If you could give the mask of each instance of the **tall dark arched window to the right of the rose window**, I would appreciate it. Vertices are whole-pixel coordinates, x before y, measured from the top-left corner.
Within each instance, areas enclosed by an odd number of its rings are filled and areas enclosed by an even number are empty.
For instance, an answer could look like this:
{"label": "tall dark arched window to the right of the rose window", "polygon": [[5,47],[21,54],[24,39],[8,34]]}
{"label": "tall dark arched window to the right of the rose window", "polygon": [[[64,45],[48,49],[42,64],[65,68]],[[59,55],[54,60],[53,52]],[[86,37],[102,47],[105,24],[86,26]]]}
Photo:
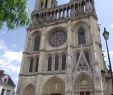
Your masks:
{"label": "tall dark arched window to the right of the rose window", "polygon": [[85,40],[85,30],[83,28],[79,28],[78,30],[78,44],[86,44]]}

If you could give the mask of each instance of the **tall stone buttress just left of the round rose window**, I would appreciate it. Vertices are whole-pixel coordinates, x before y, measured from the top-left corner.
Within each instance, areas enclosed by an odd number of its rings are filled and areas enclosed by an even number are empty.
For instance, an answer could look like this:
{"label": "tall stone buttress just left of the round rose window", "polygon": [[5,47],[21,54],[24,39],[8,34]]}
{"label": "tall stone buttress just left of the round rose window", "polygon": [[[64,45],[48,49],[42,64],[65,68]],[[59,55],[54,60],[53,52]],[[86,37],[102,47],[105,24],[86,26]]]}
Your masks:
{"label": "tall stone buttress just left of the round rose window", "polygon": [[[44,63],[46,60],[45,59],[45,42],[46,42],[46,37],[45,37],[45,33],[46,33],[46,27],[42,28],[41,30],[41,40],[40,40],[40,53],[39,53],[39,66],[38,66],[38,73],[42,74],[45,70],[44,68]],[[36,92],[35,95],[43,95],[42,91],[43,91],[43,79],[42,79],[42,75],[38,75],[37,76],[37,80],[36,80]]]}

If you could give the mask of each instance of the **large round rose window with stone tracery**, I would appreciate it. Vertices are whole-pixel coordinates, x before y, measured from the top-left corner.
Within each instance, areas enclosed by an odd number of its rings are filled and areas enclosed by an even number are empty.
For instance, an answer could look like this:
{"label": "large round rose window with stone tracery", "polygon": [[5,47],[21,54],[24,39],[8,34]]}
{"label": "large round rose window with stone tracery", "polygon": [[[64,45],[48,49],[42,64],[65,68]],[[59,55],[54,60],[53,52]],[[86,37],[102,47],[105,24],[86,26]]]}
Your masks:
{"label": "large round rose window with stone tracery", "polygon": [[67,40],[67,33],[63,30],[52,32],[49,36],[49,44],[52,47],[59,47],[63,45]]}

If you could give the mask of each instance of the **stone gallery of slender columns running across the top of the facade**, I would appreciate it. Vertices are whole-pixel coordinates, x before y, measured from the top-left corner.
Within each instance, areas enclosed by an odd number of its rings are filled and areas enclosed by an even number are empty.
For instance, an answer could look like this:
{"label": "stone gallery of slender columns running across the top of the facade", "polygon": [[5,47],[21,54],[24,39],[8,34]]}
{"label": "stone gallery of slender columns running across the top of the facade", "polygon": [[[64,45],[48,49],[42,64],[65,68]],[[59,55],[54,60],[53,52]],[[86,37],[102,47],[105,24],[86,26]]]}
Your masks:
{"label": "stone gallery of slender columns running across the top of the facade", "polygon": [[41,11],[34,10],[32,13],[32,27],[37,28],[62,23],[90,15],[97,18],[93,1],[75,0],[75,2],[70,2],[55,8],[43,9]]}

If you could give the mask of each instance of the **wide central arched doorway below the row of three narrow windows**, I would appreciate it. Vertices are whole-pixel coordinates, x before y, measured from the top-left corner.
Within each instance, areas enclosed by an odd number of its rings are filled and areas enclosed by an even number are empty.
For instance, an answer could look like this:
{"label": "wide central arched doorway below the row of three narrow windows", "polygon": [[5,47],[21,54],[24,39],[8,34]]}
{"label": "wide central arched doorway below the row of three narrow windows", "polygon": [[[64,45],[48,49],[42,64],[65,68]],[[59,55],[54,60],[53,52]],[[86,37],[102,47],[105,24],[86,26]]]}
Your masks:
{"label": "wide central arched doorway below the row of three narrow windows", "polygon": [[44,85],[43,95],[64,95],[65,83],[59,77],[49,79]]}

